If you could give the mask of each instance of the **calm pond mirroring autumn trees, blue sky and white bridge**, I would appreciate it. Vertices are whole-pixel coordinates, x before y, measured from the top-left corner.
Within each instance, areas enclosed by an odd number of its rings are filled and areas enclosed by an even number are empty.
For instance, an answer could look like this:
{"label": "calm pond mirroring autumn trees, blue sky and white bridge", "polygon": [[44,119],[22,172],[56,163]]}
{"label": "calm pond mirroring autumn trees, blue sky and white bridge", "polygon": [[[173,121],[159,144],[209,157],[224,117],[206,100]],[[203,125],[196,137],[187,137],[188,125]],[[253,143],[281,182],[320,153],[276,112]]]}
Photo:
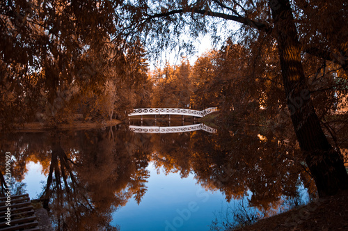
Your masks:
{"label": "calm pond mirroring autumn trees, blue sky and white bridge", "polygon": [[13,134],[13,193],[40,198],[58,230],[123,231],[228,230],[315,197],[292,141],[180,123]]}

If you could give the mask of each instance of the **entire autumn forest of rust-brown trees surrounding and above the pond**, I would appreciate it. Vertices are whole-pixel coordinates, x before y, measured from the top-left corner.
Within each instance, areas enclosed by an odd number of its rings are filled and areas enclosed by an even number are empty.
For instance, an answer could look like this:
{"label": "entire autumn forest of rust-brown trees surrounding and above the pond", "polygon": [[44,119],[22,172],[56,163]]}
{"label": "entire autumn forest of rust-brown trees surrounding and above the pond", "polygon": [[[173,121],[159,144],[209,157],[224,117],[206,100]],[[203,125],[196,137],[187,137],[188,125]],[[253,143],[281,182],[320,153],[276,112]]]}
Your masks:
{"label": "entire autumn forest of rust-brown trees surrounding and above the pond", "polygon": [[[1,1],[1,134],[217,106],[219,126],[296,141],[319,196],[333,195],[348,188],[347,17],[343,0]],[[150,70],[202,33],[222,47]]]}

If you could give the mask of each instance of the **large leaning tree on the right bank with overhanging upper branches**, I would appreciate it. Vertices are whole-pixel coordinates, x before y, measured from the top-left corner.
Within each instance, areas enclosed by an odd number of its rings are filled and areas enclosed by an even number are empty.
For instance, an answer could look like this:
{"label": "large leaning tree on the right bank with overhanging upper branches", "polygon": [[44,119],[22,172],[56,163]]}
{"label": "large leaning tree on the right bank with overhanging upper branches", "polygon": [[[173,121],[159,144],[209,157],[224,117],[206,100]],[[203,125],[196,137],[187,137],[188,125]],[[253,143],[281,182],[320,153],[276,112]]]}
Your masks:
{"label": "large leaning tree on the right bank with overhanging upper branches", "polygon": [[[260,44],[260,38],[274,41],[294,132],[319,196],[332,195],[348,188],[342,154],[333,148],[322,130],[302,63],[304,51],[316,58],[331,61],[347,74],[347,33],[342,36],[339,33],[347,31],[347,24],[338,23],[347,22],[345,1],[165,1],[150,5],[146,1],[139,1],[134,5],[127,3],[126,6],[136,11],[125,14],[129,17],[126,35],[132,34],[132,30],[142,33],[157,47],[175,44],[169,41],[173,37],[179,40],[181,29],[189,27],[192,36],[207,32],[206,25],[216,22],[209,21],[208,17],[241,24],[244,34],[240,40],[251,49]],[[312,6],[315,6],[314,9]],[[321,23],[322,16],[326,20],[324,24]],[[214,24],[212,30],[217,31]],[[252,55],[258,56],[258,53]]]}

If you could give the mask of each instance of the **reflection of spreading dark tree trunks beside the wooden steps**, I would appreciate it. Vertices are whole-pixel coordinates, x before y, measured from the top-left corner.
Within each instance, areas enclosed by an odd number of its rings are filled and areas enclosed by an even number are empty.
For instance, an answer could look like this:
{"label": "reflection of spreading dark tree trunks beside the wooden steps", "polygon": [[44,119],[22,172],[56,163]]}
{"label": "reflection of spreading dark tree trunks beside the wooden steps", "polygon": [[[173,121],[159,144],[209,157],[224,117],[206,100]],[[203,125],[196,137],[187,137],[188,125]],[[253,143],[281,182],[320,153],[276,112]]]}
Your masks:
{"label": "reflection of spreading dark tree trunks beside the wooden steps", "polygon": [[90,200],[84,184],[75,175],[76,164],[61,147],[60,138],[54,138],[58,141],[52,144],[52,161],[40,200],[46,209],[51,209],[56,228],[72,230],[107,225],[107,211],[104,208],[100,211]]}

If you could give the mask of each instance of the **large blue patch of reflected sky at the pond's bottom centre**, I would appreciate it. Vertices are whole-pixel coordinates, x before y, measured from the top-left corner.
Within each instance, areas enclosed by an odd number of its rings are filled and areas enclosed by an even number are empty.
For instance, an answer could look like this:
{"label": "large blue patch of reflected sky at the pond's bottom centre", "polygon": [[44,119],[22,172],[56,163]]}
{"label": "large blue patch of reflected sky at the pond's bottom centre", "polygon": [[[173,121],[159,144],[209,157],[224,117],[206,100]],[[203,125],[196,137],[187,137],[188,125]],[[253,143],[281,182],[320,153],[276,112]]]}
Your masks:
{"label": "large blue patch of reflected sky at the pond's bottom centre", "polygon": [[148,170],[148,191],[140,205],[131,199],[113,214],[111,224],[120,225],[121,231],[209,230],[214,212],[227,205],[219,191],[207,192],[196,184],[193,174],[183,179],[179,173],[158,175],[152,163]]}

